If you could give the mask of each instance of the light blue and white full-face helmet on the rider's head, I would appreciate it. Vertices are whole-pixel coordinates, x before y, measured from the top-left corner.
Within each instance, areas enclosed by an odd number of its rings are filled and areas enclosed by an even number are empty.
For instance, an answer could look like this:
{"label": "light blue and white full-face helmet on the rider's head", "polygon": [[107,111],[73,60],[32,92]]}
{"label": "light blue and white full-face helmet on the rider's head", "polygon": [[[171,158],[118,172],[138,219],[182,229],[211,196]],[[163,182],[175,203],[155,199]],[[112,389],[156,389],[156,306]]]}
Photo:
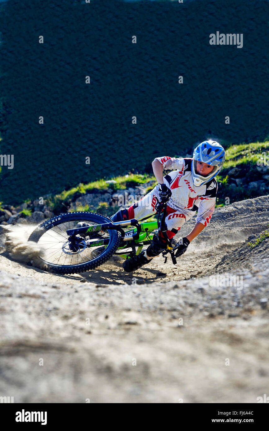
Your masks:
{"label": "light blue and white full-face helmet on the rider's head", "polygon": [[[207,165],[214,166],[210,174],[203,176],[197,173],[197,162],[203,162]],[[194,149],[193,159],[191,162],[191,173],[195,186],[202,186],[216,177],[222,169],[225,161],[224,148],[216,141],[203,141]]]}

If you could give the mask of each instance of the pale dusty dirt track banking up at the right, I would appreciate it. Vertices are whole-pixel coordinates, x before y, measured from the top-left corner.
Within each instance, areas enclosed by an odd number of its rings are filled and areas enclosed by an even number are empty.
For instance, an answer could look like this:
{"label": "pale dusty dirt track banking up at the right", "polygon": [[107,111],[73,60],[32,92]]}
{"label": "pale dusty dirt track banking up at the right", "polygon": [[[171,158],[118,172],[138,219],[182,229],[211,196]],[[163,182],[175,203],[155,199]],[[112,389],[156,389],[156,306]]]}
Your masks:
{"label": "pale dusty dirt track banking up at the right", "polygon": [[269,394],[269,238],[247,241],[268,224],[269,196],[216,209],[177,265],[157,258],[131,275],[119,258],[49,274],[11,259],[2,236],[0,396],[256,403]]}

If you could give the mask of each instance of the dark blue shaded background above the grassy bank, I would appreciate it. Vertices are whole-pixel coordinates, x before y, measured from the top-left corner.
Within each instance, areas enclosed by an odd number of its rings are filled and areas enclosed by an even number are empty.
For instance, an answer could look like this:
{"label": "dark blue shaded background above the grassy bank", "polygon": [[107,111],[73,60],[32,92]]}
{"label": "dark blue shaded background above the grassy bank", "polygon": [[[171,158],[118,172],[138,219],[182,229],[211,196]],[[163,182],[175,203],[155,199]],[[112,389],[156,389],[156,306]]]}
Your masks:
{"label": "dark blue shaded background above the grassy bank", "polygon": [[[1,3],[0,153],[14,169],[0,200],[143,172],[209,137],[265,140],[268,12],[267,0]],[[243,33],[243,47],[210,45],[216,31]]]}

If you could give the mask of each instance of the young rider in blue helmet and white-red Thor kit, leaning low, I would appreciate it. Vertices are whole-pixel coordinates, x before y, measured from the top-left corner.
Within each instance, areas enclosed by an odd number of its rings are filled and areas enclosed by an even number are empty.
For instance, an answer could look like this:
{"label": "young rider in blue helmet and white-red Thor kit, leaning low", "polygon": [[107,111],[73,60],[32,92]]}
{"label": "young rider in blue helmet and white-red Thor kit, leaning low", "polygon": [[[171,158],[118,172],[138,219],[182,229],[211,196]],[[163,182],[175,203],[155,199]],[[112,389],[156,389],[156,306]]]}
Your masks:
{"label": "young rider in blue helmet and white-red Thor kit, leaning low", "polygon": [[[224,160],[224,148],[216,141],[203,141],[194,149],[193,158],[156,157],[152,162],[153,173],[158,181],[156,187],[129,208],[119,209],[111,220],[141,220],[156,214],[157,199],[168,202],[165,221],[168,228],[166,233],[171,239],[197,211],[194,228],[178,242],[176,254],[181,256],[210,222],[218,190],[215,177],[222,169]],[[163,178],[163,169],[175,170]],[[123,269],[131,272],[140,268],[166,250],[166,247],[165,237],[159,232],[147,250],[125,260]]]}

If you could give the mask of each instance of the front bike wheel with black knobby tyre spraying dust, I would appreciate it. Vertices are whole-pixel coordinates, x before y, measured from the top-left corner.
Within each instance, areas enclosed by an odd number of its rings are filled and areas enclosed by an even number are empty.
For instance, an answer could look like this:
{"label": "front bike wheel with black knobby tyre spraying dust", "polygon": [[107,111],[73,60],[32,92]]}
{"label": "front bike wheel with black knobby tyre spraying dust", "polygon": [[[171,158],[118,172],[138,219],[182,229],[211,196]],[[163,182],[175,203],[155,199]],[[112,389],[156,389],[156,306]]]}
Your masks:
{"label": "front bike wheel with black knobby tyre spraying dust", "polygon": [[91,233],[90,247],[87,238],[78,235],[74,247],[66,231],[75,228],[79,222],[91,226],[111,220],[94,212],[68,212],[42,223],[28,238],[40,247],[38,266],[51,272],[74,274],[94,269],[110,259],[119,245],[119,231],[107,229]]}

